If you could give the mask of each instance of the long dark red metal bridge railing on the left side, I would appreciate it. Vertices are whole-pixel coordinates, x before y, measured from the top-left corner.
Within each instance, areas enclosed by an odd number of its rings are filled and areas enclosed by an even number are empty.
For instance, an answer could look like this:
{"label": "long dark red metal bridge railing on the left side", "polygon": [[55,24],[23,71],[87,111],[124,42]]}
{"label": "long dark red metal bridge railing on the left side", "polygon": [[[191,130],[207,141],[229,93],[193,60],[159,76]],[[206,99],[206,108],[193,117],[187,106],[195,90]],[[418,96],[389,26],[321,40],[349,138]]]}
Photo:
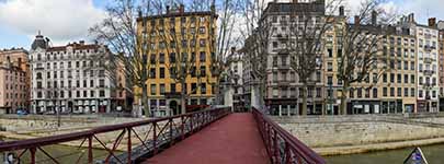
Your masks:
{"label": "long dark red metal bridge railing on the left side", "polygon": [[[161,148],[166,147],[167,144],[172,145],[174,142],[183,140],[191,133],[228,115],[229,113],[230,108],[214,108],[177,115],[172,117],[103,126],[80,132],[19,141],[7,141],[0,143],[0,152],[14,152],[15,154],[19,154],[19,156],[16,157],[20,160],[23,159],[23,154],[27,151],[30,152],[30,163],[34,164],[36,163],[36,151],[42,151],[42,153],[45,154],[46,159],[58,163],[57,156],[52,156],[50,153],[46,152],[43,149],[43,147],[79,140],[82,141],[79,148],[82,148],[83,143],[87,142],[86,147],[88,148],[88,163],[93,163],[93,160],[96,159],[93,159],[92,142],[96,141],[98,143],[95,145],[102,145],[101,148],[109,152],[107,157],[105,159],[105,163],[109,161],[117,161],[118,163],[133,163],[139,157],[134,157],[135,154],[155,155],[158,153],[158,151],[160,151]],[[148,129],[148,131],[137,131],[140,129],[136,128],[145,128]],[[100,137],[98,137],[98,134],[109,134],[107,132],[119,133],[118,137],[115,138],[114,133],[112,133],[113,139],[115,139],[113,143],[114,145],[111,145],[112,148],[109,148],[110,144],[105,144],[102,141],[104,139],[100,139]],[[143,133],[146,133],[146,136],[141,136]],[[144,137],[145,139],[143,139]],[[127,151],[124,152],[124,155],[117,155],[116,149],[122,140],[127,141]],[[132,142],[132,140],[138,142],[139,145],[135,145],[135,142]],[[133,149],[143,151],[144,153],[134,153],[132,152]],[[81,156],[83,155],[80,155],[80,157],[78,159],[78,163],[80,162],[80,160],[86,160],[81,159]],[[125,159],[118,156],[125,156]]]}

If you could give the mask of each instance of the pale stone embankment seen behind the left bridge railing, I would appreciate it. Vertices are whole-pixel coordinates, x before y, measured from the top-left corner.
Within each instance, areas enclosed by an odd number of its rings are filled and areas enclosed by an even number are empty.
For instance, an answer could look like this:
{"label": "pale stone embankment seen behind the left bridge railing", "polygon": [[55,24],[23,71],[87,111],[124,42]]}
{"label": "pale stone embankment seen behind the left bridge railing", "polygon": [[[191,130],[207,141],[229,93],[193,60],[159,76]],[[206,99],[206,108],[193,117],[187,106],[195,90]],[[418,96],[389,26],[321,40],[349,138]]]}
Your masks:
{"label": "pale stone embankment seen behind the left bridge railing", "polygon": [[[78,131],[90,130],[96,127],[106,125],[116,125],[130,121],[143,120],[146,118],[123,118],[123,117],[100,117],[100,116],[64,116],[61,117],[61,127],[57,127],[56,116],[41,116],[41,115],[1,115],[0,127],[4,131],[0,131],[0,138],[7,140],[26,140],[41,137],[49,137],[56,134],[71,133]],[[138,131],[147,131],[147,127],[137,128]],[[113,143],[118,137],[121,131],[111,131],[106,133],[96,134],[103,143]],[[139,132],[146,134],[146,132]],[[132,138],[133,139],[133,138]],[[126,143],[127,139],[123,139],[122,143]],[[79,147],[83,140],[76,140],[70,142],[61,142],[59,145]],[[136,138],[133,139],[134,144],[138,143]],[[88,144],[82,144],[88,147]],[[94,149],[104,149],[100,142],[93,142]],[[125,144],[119,144],[117,151],[126,151]]]}

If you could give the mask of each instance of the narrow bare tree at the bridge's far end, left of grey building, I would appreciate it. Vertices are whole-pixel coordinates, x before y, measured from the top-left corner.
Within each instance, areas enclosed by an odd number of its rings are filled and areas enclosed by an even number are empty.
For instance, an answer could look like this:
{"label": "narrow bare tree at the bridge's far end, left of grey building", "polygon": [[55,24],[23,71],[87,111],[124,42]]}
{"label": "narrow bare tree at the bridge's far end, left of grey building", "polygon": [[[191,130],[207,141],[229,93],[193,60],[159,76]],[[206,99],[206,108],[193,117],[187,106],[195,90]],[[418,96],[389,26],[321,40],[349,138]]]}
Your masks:
{"label": "narrow bare tree at the bridge's far end, left of grey building", "polygon": [[[243,47],[240,50],[243,54],[243,60],[250,67],[250,81],[246,81],[251,87],[252,101],[258,101],[259,107],[264,109],[263,97],[266,94],[266,61],[269,55],[270,38],[274,28],[270,20],[264,19],[266,0],[243,0],[240,3],[240,13],[244,19],[241,26],[241,36],[243,37]],[[259,99],[258,99],[259,97]]]}

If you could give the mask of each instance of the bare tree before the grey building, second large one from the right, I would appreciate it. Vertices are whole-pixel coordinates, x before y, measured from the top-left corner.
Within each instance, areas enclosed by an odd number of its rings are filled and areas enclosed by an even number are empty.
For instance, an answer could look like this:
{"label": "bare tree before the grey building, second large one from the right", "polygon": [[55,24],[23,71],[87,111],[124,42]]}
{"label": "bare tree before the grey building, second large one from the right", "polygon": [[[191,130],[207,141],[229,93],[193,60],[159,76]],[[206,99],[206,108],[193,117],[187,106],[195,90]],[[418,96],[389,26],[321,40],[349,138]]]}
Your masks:
{"label": "bare tree before the grey building, second large one from the right", "polygon": [[[334,11],[342,0],[330,0],[327,3],[296,3],[289,12],[289,20],[280,20],[288,31],[278,34],[277,38],[283,43],[278,54],[288,54],[291,68],[298,75],[301,84],[303,107],[301,115],[307,115],[307,89],[320,83],[315,73],[322,69],[322,55],[325,52],[325,37],[328,30],[334,23]],[[300,90],[299,90],[300,91]]]}

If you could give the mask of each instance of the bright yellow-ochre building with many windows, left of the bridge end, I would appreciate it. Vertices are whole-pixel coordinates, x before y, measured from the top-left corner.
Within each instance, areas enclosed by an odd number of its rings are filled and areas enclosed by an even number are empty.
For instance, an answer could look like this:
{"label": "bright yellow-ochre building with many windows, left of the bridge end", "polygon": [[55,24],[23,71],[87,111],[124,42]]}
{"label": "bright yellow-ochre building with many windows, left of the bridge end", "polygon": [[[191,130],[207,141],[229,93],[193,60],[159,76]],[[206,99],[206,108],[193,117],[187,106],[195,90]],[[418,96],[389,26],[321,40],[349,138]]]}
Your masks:
{"label": "bright yellow-ochre building with many windows, left of the bridge end", "polygon": [[[217,15],[214,11],[185,12],[184,7],[170,9],[160,15],[137,20],[141,48],[149,67],[148,104],[155,116],[180,114],[181,83],[185,83],[187,110],[194,105],[214,101],[215,77],[212,57],[215,51]],[[184,75],[186,74],[186,75]],[[135,102],[140,103],[141,90],[135,89]]]}

